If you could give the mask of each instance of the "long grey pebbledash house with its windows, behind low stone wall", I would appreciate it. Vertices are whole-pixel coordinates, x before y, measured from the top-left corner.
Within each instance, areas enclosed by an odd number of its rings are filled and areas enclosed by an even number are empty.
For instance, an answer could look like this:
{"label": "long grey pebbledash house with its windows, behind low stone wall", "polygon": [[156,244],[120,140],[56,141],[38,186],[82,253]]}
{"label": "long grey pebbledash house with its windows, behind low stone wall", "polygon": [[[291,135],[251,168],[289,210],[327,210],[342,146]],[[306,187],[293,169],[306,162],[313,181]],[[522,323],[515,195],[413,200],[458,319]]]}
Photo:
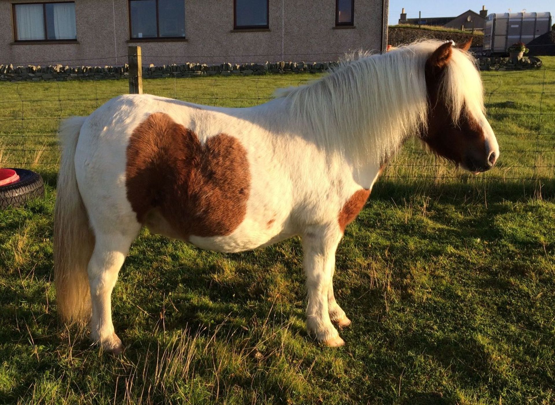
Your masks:
{"label": "long grey pebbledash house with its windows, behind low stone wall", "polygon": [[332,61],[385,50],[388,0],[0,0],[0,63]]}

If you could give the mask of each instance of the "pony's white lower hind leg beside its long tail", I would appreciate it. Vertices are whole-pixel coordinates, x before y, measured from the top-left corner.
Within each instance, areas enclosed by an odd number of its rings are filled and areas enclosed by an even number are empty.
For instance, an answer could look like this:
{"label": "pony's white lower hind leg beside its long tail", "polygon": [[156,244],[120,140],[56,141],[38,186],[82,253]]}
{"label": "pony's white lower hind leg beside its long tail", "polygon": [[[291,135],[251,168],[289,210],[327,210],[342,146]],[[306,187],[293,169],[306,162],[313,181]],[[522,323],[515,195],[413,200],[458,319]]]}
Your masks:
{"label": "pony's white lower hind leg beside its long tail", "polygon": [[[137,231],[138,232],[138,231]],[[92,317],[90,338],[103,349],[119,354],[123,346],[112,323],[111,296],[119,269],[133,242],[135,233],[95,232],[93,255],[88,266]]]}

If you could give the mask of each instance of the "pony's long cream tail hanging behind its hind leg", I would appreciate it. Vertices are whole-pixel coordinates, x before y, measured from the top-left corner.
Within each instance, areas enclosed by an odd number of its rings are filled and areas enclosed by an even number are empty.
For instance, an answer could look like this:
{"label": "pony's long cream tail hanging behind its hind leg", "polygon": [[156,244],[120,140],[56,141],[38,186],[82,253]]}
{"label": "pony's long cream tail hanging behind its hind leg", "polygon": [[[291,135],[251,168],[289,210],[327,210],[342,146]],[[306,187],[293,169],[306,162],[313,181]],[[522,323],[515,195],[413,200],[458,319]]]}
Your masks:
{"label": "pony's long cream tail hanging behind its hind leg", "polygon": [[75,178],[75,148],[85,117],[71,117],[60,124],[62,162],[58,173],[54,214],[54,282],[58,314],[63,322],[90,318],[87,266],[94,235]]}

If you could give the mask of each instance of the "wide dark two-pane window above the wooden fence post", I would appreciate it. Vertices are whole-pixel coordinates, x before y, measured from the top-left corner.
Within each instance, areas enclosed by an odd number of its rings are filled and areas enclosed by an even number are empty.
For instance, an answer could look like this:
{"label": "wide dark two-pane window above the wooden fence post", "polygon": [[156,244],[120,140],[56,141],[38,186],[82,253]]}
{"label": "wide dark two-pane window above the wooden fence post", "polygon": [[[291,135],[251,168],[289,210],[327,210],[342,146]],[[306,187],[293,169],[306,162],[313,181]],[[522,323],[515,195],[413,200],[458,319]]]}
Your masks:
{"label": "wide dark two-pane window above the wooden fence post", "polygon": [[185,0],[130,0],[131,38],[184,38]]}

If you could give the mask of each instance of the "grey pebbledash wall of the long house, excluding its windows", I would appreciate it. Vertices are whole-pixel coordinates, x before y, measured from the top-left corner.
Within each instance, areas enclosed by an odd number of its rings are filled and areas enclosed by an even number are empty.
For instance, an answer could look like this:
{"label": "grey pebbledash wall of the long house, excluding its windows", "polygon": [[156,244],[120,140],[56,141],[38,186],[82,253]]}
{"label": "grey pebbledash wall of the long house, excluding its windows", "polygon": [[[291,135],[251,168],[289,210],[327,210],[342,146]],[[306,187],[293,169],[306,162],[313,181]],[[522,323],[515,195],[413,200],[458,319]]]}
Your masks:
{"label": "grey pebbledash wall of the long house, excluding its windows", "polygon": [[77,43],[14,42],[12,3],[19,2],[33,0],[0,0],[0,63],[118,65],[130,45],[142,47],[143,63],[157,65],[330,61],[387,43],[382,0],[355,0],[355,28],[347,29],[334,28],[335,0],[270,0],[270,31],[258,32],[231,32],[233,0],[185,0],[186,41],[166,42],[130,41],[127,0],[75,0]]}

